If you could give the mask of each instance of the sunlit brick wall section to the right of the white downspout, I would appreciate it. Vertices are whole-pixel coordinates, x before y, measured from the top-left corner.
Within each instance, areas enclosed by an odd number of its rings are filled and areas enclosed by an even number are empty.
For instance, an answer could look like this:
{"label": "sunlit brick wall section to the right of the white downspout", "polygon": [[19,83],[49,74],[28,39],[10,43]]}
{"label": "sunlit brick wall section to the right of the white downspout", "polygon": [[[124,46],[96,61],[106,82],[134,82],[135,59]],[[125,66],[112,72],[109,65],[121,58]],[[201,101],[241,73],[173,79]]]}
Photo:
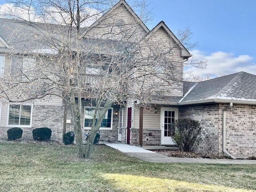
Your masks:
{"label": "sunlit brick wall section to the right of the white downspout", "polygon": [[226,112],[226,150],[236,158],[256,156],[256,106],[234,104]]}

